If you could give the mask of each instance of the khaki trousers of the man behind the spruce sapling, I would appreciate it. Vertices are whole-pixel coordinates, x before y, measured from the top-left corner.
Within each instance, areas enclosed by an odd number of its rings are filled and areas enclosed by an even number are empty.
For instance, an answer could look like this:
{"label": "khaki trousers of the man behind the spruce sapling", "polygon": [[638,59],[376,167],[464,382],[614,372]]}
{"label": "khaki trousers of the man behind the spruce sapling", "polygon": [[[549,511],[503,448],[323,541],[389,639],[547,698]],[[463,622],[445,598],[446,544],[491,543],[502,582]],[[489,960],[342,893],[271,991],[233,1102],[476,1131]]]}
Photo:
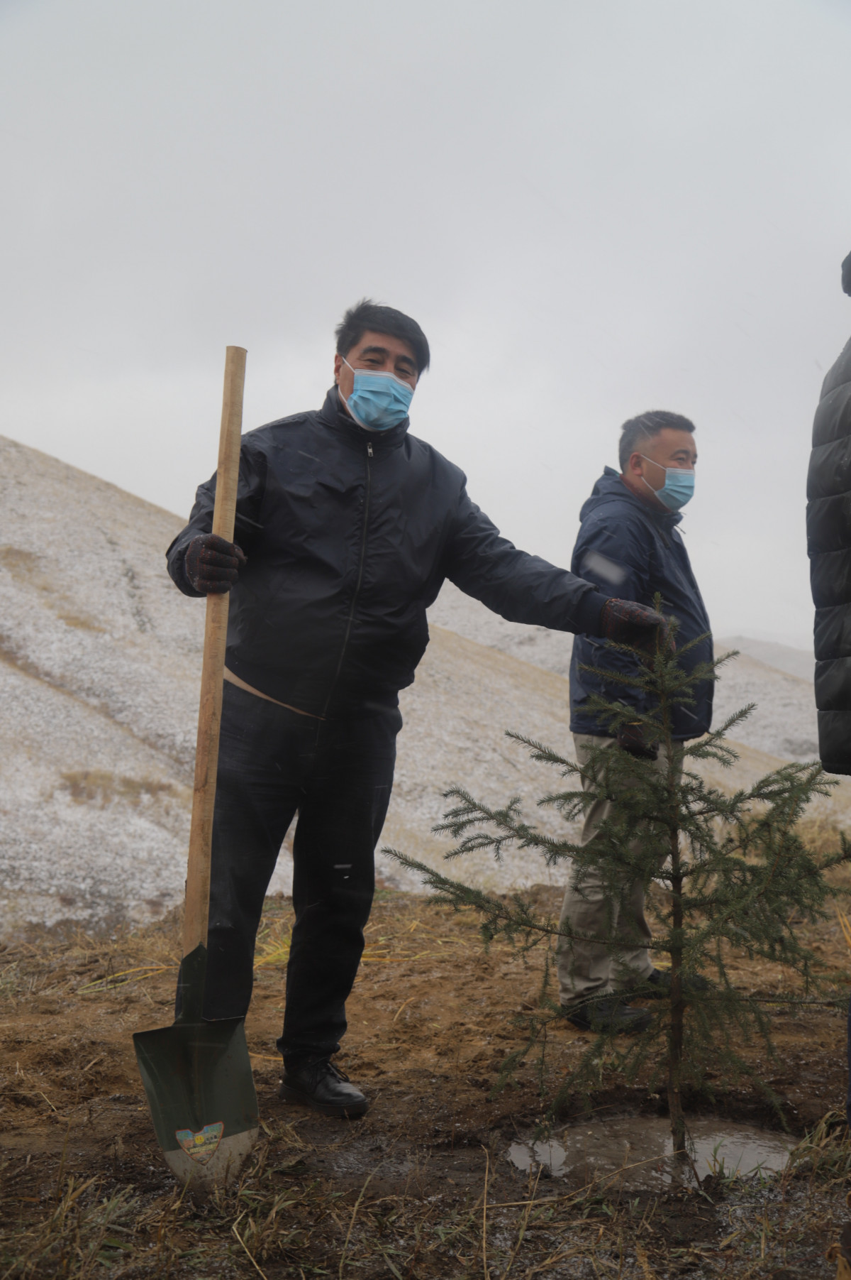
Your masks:
{"label": "khaki trousers of the man behind the spruce sapling", "polygon": [[[574,733],[576,759],[586,764],[597,748],[615,746],[613,737],[597,737],[590,733]],[[667,768],[667,756],[659,749],[657,768]],[[589,787],[583,780],[583,790]],[[611,801],[595,800],[585,813],[581,844],[592,840],[599,824],[611,813]],[[659,867],[667,858],[667,849],[659,849]],[[558,995],[562,1006],[593,1000],[598,996],[611,996],[627,991],[644,982],[653,973],[653,961],[647,946],[653,934],[644,918],[644,886],[641,881],[625,884],[616,900],[611,892],[607,896],[603,879],[598,870],[586,868],[581,882],[574,873],[567,884],[561,906],[560,925],[570,925],[583,933],[594,933],[598,938],[611,937],[613,942],[624,941],[626,946],[612,955],[611,950],[599,942],[580,942],[560,938],[557,946]]]}

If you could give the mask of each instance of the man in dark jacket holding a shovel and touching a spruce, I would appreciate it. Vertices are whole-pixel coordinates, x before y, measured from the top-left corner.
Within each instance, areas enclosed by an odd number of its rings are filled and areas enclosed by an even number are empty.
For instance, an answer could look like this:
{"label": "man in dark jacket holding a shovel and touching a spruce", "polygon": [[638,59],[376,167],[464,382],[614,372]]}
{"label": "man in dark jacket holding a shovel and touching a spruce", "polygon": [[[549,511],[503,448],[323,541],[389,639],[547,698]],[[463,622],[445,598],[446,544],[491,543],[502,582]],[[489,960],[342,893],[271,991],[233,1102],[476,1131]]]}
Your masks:
{"label": "man in dark jacket holding a shovel and touching a spruce", "polygon": [[330,1059],[372,905],[397,695],[443,580],[561,631],[650,644],[662,622],[500,536],[463,472],[408,431],[428,362],[409,316],[353,307],[322,408],[243,439],[236,541],[210,532],[213,476],[167,550],[184,594],[231,591],[204,1016],[248,1010],[263,897],[298,812],[281,1097],[328,1115],[367,1108]]}

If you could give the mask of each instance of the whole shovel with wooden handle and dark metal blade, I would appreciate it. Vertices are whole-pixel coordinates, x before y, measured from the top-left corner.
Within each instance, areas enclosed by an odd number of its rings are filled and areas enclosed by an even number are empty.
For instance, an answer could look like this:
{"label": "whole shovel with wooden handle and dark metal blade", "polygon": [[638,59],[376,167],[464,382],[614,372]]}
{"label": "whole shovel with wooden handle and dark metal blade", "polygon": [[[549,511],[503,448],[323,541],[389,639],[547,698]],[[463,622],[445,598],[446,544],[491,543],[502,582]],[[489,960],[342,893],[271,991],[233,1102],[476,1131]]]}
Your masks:
{"label": "whole shovel with wooden handle and dark metal blade", "polygon": [[[234,539],[245,352],[229,347],[218,438],[213,534]],[[259,1119],[241,1018],[203,1021],[216,765],[221,723],[227,593],[207,596],[195,785],[192,799],[180,998],[172,1027],[133,1037],[157,1142],[169,1169],[202,1196],[234,1181]]]}

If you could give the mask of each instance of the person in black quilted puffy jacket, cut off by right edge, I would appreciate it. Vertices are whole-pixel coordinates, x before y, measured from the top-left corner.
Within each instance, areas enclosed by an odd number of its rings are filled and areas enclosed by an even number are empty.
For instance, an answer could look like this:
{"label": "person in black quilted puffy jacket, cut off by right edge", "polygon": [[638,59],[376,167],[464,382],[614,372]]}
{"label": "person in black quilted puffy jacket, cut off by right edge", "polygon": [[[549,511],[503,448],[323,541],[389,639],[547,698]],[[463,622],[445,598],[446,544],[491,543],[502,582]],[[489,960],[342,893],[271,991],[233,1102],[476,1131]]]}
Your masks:
{"label": "person in black quilted puffy jacket, cut off by right edge", "polygon": [[[851,294],[851,253],[842,288]],[[851,773],[851,340],[822,384],[806,498],[819,756]]]}

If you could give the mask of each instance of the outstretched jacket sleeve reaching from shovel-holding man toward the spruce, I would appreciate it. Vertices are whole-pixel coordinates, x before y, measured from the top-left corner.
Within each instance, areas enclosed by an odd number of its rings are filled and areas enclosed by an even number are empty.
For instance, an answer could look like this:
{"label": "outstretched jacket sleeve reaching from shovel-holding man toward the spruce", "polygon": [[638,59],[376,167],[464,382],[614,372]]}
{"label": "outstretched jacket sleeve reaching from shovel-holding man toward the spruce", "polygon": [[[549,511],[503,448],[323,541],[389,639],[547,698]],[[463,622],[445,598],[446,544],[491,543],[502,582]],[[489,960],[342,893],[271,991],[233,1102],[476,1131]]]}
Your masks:
{"label": "outstretched jacket sleeve reaching from shovel-holding man toward the spruce", "polygon": [[509,622],[601,635],[599,616],[608,596],[539,556],[518,550],[466,489],[461,492],[443,571],[461,591]]}

